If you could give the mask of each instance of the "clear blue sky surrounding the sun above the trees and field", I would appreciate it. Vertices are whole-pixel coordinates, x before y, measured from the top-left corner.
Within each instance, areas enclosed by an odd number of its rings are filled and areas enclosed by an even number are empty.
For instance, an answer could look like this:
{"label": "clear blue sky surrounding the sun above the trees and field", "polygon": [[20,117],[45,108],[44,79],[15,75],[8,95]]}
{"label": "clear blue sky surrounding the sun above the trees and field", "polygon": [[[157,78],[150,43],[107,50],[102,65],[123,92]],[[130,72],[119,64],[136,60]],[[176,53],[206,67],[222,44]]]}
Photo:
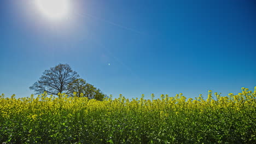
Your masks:
{"label": "clear blue sky surrounding the sun above the trees and field", "polygon": [[69,64],[114,98],[194,98],[256,86],[255,1],[71,1],[49,20],[32,0],[0,2],[0,93],[29,97],[44,70]]}

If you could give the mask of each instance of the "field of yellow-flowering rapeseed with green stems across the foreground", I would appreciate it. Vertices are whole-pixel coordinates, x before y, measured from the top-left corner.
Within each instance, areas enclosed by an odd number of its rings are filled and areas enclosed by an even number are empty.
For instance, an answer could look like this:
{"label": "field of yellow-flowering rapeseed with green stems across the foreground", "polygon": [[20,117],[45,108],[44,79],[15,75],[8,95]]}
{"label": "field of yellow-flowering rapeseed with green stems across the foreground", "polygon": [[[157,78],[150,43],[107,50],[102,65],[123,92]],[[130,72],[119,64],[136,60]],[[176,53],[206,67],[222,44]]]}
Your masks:
{"label": "field of yellow-flowering rapeseed with green stems across the foreground", "polygon": [[2,94],[0,143],[256,143],[256,87],[205,99]]}

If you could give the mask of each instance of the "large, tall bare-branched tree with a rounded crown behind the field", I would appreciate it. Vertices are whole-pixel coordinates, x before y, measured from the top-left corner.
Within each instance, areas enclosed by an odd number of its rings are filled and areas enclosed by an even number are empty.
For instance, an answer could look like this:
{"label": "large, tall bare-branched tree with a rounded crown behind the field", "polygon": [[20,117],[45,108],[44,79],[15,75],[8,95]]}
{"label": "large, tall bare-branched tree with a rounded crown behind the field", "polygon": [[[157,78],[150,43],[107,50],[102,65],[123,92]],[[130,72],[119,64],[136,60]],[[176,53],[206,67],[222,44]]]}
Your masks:
{"label": "large, tall bare-branched tree with a rounded crown behind the field", "polygon": [[35,82],[30,89],[41,94],[63,93],[67,91],[67,85],[77,79],[79,75],[73,71],[68,64],[59,64],[50,70],[45,70],[40,79]]}

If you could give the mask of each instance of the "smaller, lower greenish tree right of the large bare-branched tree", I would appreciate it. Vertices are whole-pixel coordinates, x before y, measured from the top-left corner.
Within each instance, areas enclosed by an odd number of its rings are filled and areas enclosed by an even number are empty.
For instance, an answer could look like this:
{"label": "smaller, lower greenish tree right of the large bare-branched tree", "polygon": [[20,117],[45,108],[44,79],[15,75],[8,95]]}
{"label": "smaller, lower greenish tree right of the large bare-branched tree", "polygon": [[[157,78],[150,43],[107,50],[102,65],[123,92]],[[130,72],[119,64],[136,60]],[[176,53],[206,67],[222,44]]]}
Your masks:
{"label": "smaller, lower greenish tree right of the large bare-branched tree", "polygon": [[73,96],[75,92],[77,93],[77,97],[88,97],[88,99],[103,100],[106,97],[100,89],[86,83],[83,79],[76,79],[69,83],[67,89],[70,96]]}

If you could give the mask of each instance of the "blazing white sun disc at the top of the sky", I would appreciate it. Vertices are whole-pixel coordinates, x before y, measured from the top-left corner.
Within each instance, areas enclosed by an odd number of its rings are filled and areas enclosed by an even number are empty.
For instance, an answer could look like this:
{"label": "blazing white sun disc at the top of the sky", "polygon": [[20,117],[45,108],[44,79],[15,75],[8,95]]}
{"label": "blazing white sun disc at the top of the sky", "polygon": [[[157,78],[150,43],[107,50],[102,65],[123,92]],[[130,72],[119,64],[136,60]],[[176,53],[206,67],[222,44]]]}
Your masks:
{"label": "blazing white sun disc at the top of the sky", "polygon": [[36,0],[38,9],[50,19],[62,19],[69,14],[69,0]]}

